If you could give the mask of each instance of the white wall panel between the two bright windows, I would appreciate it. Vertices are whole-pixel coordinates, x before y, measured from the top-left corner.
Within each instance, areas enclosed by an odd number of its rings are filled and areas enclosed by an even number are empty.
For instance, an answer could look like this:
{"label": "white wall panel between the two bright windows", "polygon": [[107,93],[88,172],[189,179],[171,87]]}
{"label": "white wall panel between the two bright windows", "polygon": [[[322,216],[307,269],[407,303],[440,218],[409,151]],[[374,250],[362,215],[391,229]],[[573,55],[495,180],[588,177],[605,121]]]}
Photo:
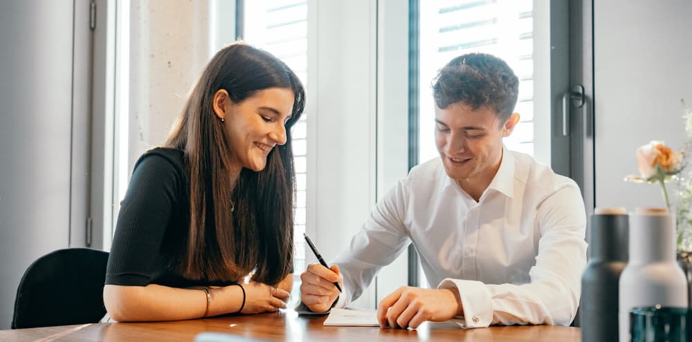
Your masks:
{"label": "white wall panel between the two bright windows", "polygon": [[[375,202],[375,5],[308,2],[305,113],[307,139],[317,143],[308,146],[306,231],[325,260],[349,243]],[[365,292],[355,306],[372,303],[372,291]]]}

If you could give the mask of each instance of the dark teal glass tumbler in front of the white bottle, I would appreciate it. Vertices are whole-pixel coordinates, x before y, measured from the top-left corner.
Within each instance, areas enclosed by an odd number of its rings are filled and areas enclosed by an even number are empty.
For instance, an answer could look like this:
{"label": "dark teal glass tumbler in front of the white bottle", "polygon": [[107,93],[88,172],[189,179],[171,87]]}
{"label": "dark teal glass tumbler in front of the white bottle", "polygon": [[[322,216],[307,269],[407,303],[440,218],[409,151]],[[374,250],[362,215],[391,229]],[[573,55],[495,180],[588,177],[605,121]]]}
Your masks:
{"label": "dark teal glass tumbler in front of the white bottle", "polygon": [[692,309],[635,307],[630,310],[632,342],[692,342]]}

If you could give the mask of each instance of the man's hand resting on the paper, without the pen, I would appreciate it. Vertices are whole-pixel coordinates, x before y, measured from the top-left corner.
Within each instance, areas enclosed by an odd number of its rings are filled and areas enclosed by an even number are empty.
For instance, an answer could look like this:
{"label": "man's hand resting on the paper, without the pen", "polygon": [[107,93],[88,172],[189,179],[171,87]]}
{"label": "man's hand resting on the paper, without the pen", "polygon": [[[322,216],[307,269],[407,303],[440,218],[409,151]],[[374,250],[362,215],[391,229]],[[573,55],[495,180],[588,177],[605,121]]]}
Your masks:
{"label": "man's hand resting on the paper, without the pen", "polygon": [[419,327],[425,321],[442,322],[464,313],[459,291],[399,287],[386,296],[377,309],[380,327]]}

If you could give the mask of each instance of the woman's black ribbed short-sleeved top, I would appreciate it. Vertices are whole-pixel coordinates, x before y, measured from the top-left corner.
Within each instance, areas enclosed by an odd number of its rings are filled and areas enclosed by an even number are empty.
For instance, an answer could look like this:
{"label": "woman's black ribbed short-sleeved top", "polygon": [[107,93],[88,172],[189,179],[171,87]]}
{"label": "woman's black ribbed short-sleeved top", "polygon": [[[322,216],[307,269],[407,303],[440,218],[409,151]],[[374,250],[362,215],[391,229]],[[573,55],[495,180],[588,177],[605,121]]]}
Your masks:
{"label": "woman's black ribbed short-sleeved top", "polygon": [[136,162],[120,204],[107,285],[230,285],[191,280],[177,270],[190,227],[188,175],[183,165],[183,151],[164,148],[147,151]]}

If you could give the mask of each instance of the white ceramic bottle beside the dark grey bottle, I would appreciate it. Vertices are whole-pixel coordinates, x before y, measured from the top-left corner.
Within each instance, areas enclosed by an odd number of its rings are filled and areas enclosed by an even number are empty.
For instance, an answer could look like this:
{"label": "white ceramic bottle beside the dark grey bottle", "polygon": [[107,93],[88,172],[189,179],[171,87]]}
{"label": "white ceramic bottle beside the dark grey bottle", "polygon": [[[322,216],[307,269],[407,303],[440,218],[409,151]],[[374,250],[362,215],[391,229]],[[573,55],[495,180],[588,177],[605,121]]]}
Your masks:
{"label": "white ceramic bottle beside the dark grey bottle", "polygon": [[675,261],[675,219],[666,209],[630,213],[629,261],[620,274],[620,342],[630,341],[630,310],[687,306],[687,281]]}

